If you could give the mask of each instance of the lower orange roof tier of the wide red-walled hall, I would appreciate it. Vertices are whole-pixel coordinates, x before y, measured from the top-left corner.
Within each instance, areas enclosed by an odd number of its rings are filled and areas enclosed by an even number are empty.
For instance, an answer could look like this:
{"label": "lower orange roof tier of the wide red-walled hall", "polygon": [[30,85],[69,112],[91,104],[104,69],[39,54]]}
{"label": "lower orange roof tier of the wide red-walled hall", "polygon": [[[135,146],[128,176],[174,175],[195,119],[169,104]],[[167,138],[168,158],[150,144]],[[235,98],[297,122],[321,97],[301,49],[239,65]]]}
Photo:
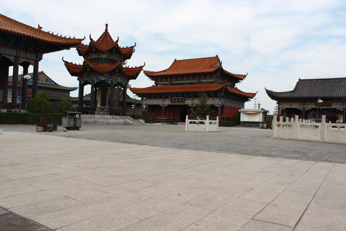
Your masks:
{"label": "lower orange roof tier of the wide red-walled hall", "polygon": [[[149,94],[149,93],[172,93],[172,92],[206,92],[219,91],[226,86],[226,83],[212,83],[212,84],[197,84],[197,85],[173,85],[173,86],[151,86],[146,88],[129,88],[135,94]],[[227,86],[227,90],[233,94],[245,96],[248,98],[255,97],[256,93],[247,93],[237,88]]]}

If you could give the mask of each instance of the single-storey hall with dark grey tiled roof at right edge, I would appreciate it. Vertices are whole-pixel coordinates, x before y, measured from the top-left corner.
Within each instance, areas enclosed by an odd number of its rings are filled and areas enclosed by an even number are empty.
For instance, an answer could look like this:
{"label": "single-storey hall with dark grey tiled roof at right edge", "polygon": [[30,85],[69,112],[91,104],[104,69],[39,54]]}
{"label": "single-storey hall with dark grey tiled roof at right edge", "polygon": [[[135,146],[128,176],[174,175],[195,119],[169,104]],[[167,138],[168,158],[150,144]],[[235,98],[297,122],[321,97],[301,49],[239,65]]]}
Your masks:
{"label": "single-storey hall with dark grey tiled roof at right edge", "polygon": [[310,119],[319,115],[335,113],[343,115],[345,123],[346,78],[299,79],[292,91],[275,92],[266,90],[267,95],[277,101],[279,116],[299,115],[299,118]]}

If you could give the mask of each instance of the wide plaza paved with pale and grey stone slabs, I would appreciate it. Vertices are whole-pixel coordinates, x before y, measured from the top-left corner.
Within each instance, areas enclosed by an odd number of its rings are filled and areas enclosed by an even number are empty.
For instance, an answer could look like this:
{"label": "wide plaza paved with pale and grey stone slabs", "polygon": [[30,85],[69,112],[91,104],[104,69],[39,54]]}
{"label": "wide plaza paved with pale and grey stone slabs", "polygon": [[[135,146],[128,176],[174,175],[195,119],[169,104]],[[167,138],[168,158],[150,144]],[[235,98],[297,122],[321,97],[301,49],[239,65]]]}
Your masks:
{"label": "wide plaza paved with pale and grey stone slabs", "polygon": [[35,128],[0,125],[0,230],[346,229],[346,145],[254,128]]}

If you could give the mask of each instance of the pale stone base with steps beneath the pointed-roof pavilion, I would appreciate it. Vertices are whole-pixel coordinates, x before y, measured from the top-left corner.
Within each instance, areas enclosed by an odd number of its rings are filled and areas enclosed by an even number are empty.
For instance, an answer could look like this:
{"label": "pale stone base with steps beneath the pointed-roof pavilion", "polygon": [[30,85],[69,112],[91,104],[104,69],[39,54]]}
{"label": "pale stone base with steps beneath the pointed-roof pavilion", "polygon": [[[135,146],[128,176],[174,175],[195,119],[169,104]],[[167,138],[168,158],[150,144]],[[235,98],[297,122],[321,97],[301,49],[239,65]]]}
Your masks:
{"label": "pale stone base with steps beneath the pointed-roof pavilion", "polygon": [[144,121],[129,116],[81,115],[82,124],[146,125]]}

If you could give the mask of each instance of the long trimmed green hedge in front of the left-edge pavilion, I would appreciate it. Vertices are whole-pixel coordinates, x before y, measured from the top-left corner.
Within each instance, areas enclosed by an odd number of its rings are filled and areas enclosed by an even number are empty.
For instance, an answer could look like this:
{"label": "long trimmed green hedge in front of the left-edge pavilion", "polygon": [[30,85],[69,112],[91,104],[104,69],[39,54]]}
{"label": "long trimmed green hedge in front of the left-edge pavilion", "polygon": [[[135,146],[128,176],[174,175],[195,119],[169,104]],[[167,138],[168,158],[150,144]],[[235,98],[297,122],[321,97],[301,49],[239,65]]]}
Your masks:
{"label": "long trimmed green hedge in front of the left-edge pavilion", "polygon": [[[38,124],[40,115],[36,113],[1,112],[0,124]],[[61,125],[61,118],[64,117],[62,113],[44,113],[42,115],[49,115],[49,121],[57,122],[58,125]]]}

